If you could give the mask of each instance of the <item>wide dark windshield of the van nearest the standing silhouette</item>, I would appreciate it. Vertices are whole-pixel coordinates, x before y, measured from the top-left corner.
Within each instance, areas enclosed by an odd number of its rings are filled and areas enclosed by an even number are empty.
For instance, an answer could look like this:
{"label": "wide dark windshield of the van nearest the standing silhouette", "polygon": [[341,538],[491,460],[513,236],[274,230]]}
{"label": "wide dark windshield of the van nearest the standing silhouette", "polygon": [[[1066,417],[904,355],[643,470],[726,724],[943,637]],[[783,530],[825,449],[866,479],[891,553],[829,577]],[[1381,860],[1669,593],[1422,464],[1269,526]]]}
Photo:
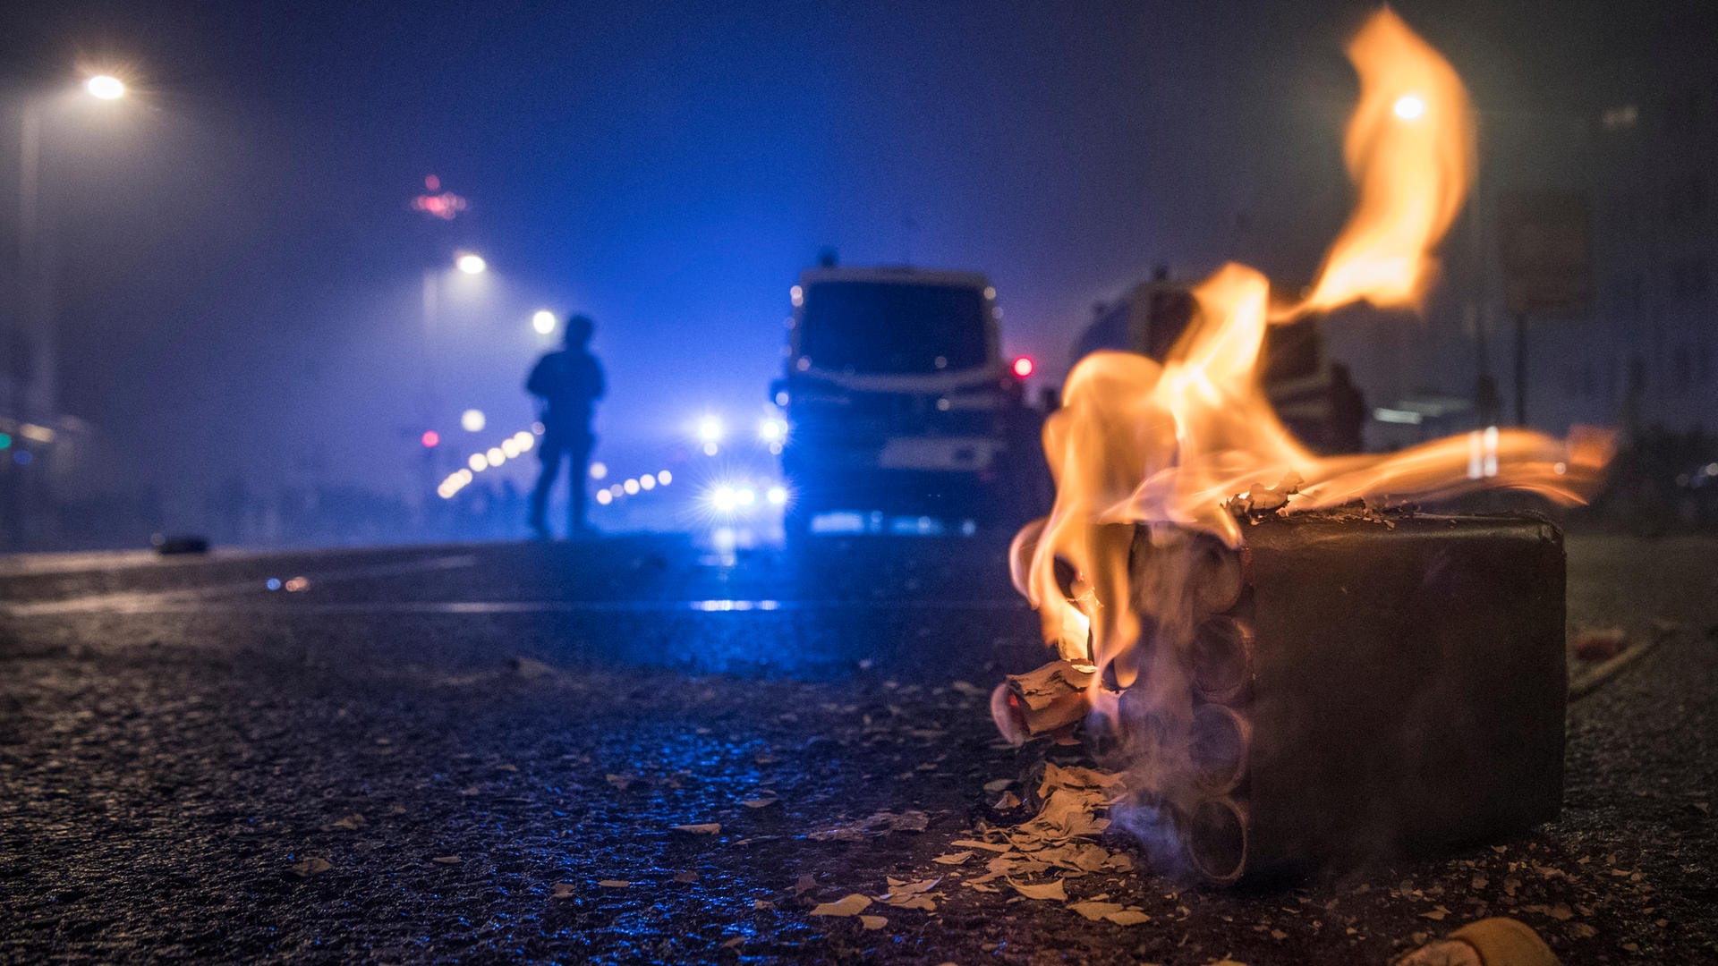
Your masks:
{"label": "wide dark windshield of the van nearest the standing silhouette", "polygon": [[966,285],[818,282],[806,292],[799,354],[847,373],[978,368],[984,296]]}

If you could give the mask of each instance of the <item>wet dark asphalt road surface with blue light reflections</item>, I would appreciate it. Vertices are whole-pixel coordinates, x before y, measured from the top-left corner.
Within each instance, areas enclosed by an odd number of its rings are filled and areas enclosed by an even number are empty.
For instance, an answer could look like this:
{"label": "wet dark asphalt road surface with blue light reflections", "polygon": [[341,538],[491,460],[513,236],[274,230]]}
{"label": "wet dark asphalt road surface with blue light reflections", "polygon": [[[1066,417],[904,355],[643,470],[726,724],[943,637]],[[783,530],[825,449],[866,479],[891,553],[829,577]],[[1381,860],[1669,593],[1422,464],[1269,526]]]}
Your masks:
{"label": "wet dark asphalt road surface with blue light reflections", "polygon": [[1242,890],[1112,830],[1063,887],[1129,925],[933,861],[1043,755],[986,712],[1046,660],[995,540],[0,559],[0,961],[1381,964],[1488,914],[1709,961],[1715,550],[1570,540],[1570,624],[1658,645],[1555,823]]}

